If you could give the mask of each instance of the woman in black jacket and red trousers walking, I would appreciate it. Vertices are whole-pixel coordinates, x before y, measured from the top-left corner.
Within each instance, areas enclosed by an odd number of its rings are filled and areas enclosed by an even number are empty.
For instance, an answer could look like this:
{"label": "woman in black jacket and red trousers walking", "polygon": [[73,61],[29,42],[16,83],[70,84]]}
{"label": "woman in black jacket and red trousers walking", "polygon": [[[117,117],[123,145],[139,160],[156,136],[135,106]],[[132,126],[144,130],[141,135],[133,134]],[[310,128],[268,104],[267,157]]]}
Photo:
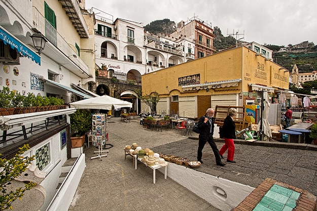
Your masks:
{"label": "woman in black jacket and red trousers walking", "polygon": [[237,113],[238,113],[237,109],[230,108],[228,112],[229,115],[225,118],[224,125],[222,126],[220,130],[220,137],[225,139],[225,144],[219,150],[219,154],[221,158],[224,158],[223,154],[228,149],[227,162],[231,162],[231,163],[236,162],[233,160],[234,149],[235,149],[233,139],[236,139],[235,123],[233,121],[233,118],[237,115]]}

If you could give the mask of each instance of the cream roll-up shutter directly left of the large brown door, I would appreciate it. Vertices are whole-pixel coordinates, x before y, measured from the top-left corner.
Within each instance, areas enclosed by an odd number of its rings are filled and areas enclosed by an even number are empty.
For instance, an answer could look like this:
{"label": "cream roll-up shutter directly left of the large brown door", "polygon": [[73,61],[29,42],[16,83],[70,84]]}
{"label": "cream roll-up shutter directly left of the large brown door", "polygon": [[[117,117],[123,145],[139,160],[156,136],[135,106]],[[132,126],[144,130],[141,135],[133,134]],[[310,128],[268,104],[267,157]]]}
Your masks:
{"label": "cream roll-up shutter directly left of the large brown door", "polygon": [[179,97],[179,116],[186,118],[197,117],[197,96]]}

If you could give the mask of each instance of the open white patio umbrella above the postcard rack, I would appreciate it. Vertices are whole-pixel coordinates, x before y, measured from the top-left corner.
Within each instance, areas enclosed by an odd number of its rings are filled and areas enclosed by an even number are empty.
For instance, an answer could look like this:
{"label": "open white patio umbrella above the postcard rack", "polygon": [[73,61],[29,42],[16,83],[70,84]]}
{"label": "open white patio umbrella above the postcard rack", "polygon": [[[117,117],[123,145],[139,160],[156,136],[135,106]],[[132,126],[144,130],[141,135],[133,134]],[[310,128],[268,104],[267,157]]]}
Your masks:
{"label": "open white patio umbrella above the postcard rack", "polygon": [[80,100],[74,103],[70,103],[70,105],[71,105],[71,108],[79,108],[79,109],[111,110],[112,106],[114,106],[115,109],[123,108],[123,107],[132,108],[132,103],[119,100],[117,98],[113,98],[108,95]]}

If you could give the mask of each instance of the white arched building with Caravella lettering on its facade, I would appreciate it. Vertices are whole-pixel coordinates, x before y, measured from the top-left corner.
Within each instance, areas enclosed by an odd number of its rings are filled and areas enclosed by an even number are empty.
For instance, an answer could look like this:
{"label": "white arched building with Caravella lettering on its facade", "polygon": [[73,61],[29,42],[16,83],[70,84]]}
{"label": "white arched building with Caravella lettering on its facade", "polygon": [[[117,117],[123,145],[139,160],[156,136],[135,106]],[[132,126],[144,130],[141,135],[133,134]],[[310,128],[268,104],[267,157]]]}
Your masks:
{"label": "white arched building with Caravella lettering on its facade", "polygon": [[118,79],[140,82],[143,74],[194,59],[194,55],[186,53],[190,51],[189,48],[194,50],[193,41],[172,41],[167,35],[157,36],[145,32],[143,23],[121,18],[113,21],[112,15],[96,8],[90,12],[94,12],[96,17],[96,64],[105,64]]}

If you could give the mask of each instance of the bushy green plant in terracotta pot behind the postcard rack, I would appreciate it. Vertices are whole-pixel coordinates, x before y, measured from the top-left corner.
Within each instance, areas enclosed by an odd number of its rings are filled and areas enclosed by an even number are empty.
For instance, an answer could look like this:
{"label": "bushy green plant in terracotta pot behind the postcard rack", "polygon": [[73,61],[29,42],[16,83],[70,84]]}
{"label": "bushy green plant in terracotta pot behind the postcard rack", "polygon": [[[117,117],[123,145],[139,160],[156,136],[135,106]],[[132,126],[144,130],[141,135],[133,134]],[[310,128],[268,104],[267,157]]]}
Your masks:
{"label": "bushy green plant in terracotta pot behind the postcard rack", "polygon": [[85,142],[85,135],[91,129],[91,113],[89,109],[78,109],[75,113],[69,114],[71,129],[75,137],[71,137],[72,147],[81,147]]}

